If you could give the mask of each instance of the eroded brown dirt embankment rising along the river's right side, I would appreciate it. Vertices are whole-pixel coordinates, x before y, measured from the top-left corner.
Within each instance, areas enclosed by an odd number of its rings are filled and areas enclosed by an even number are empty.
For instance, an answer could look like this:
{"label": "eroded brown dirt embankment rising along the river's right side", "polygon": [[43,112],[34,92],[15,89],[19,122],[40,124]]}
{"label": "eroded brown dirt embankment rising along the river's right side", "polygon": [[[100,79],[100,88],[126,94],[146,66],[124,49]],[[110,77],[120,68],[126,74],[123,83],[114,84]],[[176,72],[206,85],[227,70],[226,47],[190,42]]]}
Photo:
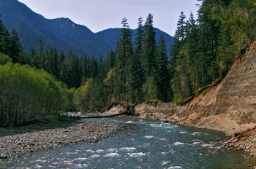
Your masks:
{"label": "eroded brown dirt embankment rising along the river's right side", "polygon": [[[157,119],[181,125],[219,130],[227,135],[242,133],[256,123],[256,41],[244,47],[229,73],[218,85],[195,95],[184,106],[175,103],[142,103],[134,107],[137,118]],[[105,114],[126,111],[123,106],[109,109]],[[255,135],[249,131],[251,140]],[[248,131],[247,131],[248,133]],[[253,136],[252,136],[253,135]],[[243,140],[237,146],[249,149],[255,143]],[[249,144],[250,143],[250,144]],[[251,145],[251,146],[249,146]],[[246,148],[247,147],[247,148]],[[256,151],[255,151],[256,152]],[[256,153],[255,153],[256,154]]]}

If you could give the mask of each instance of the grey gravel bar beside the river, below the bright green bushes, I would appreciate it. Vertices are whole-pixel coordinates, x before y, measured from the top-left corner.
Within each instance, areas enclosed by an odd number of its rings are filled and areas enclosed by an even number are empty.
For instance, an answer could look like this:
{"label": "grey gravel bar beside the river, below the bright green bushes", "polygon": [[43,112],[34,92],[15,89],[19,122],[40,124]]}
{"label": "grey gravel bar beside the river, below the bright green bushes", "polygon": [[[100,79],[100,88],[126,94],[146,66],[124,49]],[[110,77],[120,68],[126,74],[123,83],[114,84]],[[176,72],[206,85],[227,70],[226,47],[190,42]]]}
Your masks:
{"label": "grey gravel bar beside the river, below the bright green bushes", "polygon": [[38,122],[23,127],[0,128],[0,164],[26,157],[31,152],[78,142],[95,143],[125,127],[115,122],[78,119]]}

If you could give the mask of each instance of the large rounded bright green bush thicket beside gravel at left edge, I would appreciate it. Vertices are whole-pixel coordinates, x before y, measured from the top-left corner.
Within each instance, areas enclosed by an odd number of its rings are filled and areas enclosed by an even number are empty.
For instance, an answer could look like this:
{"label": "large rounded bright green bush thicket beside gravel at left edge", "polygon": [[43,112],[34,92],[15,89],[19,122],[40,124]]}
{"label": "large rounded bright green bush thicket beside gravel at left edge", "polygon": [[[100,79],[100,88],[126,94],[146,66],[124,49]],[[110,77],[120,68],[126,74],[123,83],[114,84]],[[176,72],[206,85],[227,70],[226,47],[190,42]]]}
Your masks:
{"label": "large rounded bright green bush thicket beside gravel at left edge", "polygon": [[59,85],[50,74],[29,66],[0,66],[1,126],[23,125],[60,109]]}

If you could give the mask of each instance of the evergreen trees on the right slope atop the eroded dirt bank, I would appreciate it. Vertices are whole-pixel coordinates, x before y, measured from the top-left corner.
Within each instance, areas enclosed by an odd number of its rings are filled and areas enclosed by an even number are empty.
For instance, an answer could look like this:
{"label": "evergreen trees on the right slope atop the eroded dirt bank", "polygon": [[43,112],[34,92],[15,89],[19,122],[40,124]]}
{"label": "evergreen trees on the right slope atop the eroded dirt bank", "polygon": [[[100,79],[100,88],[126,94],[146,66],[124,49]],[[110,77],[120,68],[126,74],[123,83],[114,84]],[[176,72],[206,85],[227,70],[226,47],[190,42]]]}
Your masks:
{"label": "evergreen trees on the right slope atop the eroded dirt bank", "polygon": [[198,19],[183,12],[173,44],[173,100],[188,98],[226,76],[245,43],[255,39],[255,0],[200,1]]}

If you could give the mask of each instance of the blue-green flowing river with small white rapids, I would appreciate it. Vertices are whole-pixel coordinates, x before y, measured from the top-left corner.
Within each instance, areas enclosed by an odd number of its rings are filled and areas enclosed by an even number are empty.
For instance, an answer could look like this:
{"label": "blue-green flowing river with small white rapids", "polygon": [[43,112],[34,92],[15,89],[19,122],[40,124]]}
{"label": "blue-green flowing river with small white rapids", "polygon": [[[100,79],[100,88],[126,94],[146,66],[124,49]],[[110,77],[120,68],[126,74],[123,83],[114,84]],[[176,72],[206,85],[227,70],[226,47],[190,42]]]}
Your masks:
{"label": "blue-green flowing river with small white rapids", "polygon": [[[91,119],[96,120],[96,119]],[[97,119],[127,124],[96,144],[34,152],[10,168],[249,168],[243,152],[216,152],[225,135],[142,119]]]}

